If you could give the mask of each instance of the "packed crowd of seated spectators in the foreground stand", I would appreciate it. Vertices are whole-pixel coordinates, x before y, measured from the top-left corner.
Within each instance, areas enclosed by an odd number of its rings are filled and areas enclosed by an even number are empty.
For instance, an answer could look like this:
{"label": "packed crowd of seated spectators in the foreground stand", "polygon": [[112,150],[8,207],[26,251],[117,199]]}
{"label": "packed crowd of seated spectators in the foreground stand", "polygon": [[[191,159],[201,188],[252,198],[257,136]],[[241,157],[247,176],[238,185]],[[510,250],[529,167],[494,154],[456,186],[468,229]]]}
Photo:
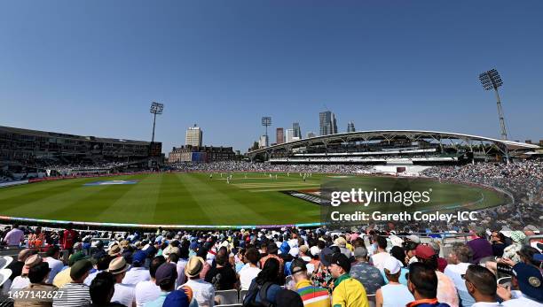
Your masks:
{"label": "packed crowd of seated spectators in the foreground stand", "polygon": [[[3,292],[15,306],[205,307],[224,303],[221,291],[232,289],[243,291],[244,306],[543,306],[543,242],[525,242],[538,232],[476,227],[444,254],[440,239],[423,243],[390,227],[159,228],[92,241],[96,233],[71,225],[14,225],[2,242],[28,248],[7,266]],[[25,291],[57,296],[36,302]]]}

